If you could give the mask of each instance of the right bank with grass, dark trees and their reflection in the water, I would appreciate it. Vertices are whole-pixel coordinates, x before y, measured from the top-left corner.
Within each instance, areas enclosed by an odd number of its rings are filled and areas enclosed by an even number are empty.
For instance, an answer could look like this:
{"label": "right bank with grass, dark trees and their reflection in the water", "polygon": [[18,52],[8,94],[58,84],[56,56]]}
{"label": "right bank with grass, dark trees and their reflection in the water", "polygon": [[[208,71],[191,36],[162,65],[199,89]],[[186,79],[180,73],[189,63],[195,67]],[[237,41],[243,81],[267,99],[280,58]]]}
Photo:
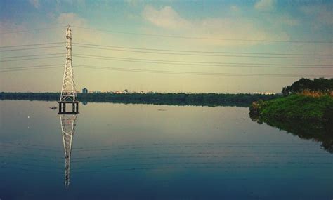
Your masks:
{"label": "right bank with grass, dark trees and their reflection in the water", "polygon": [[333,153],[333,79],[315,80],[300,79],[282,89],[283,97],[253,102],[249,115],[259,124],[322,142]]}

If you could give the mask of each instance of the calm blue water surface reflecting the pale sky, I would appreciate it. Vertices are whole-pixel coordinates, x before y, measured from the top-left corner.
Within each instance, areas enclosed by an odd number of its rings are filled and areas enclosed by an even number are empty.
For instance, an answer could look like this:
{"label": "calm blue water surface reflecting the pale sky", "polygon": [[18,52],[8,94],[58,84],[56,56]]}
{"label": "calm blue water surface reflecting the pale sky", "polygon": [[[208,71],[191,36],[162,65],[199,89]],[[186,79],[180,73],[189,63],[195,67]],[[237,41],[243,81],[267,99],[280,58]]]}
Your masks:
{"label": "calm blue water surface reflecting the pale sky", "polygon": [[244,107],[53,105],[0,101],[1,200],[333,197],[333,154]]}

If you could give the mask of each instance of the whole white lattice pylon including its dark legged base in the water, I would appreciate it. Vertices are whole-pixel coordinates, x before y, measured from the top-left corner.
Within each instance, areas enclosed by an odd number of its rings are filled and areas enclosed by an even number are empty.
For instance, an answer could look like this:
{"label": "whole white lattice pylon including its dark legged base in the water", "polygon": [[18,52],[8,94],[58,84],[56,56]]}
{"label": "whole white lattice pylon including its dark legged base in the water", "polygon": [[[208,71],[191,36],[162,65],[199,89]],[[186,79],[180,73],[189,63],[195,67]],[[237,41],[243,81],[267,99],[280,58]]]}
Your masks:
{"label": "whole white lattice pylon including its dark legged base in the water", "polygon": [[[72,67],[72,30],[70,26],[66,29],[66,65],[63,76],[63,86],[61,88],[59,112],[58,114],[77,114],[79,113],[79,101],[77,100],[77,91],[74,84],[74,75]],[[66,104],[72,104],[72,111],[66,111]]]}

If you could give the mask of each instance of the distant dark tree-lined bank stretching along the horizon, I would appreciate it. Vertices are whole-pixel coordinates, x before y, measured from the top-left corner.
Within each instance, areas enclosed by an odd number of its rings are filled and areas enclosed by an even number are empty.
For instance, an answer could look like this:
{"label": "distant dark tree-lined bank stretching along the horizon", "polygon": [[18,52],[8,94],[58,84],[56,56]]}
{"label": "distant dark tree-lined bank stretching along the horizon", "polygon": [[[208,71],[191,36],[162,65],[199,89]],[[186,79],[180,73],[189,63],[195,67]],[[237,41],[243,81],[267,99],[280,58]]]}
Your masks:
{"label": "distant dark tree-lined bank stretching along the horizon", "polygon": [[[258,100],[273,100],[280,95],[219,94],[219,93],[78,93],[81,102],[117,102],[156,105],[199,105],[249,107]],[[1,100],[57,101],[60,93],[0,93]]]}

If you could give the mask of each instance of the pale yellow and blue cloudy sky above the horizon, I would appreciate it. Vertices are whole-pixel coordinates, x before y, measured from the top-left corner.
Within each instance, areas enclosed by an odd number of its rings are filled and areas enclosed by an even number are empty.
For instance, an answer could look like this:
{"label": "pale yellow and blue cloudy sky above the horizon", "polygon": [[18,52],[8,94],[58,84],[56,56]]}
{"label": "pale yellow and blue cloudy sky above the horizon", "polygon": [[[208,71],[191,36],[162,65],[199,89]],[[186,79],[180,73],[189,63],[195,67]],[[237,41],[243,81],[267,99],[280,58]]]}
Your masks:
{"label": "pale yellow and blue cloudy sky above the horizon", "polygon": [[70,25],[77,91],[280,92],[333,77],[332,10],[333,1],[2,0],[0,91],[60,91]]}

